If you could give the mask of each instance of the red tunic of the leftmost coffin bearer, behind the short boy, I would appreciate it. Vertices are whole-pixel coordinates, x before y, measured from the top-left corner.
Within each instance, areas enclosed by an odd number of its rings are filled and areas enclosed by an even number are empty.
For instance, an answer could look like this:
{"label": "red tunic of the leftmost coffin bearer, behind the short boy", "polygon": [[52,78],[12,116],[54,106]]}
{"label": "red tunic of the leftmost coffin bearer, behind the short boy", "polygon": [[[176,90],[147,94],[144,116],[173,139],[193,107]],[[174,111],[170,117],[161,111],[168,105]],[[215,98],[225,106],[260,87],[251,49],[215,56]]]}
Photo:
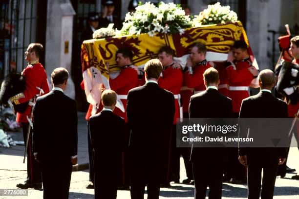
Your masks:
{"label": "red tunic of the leftmost coffin bearer, behind the short boy", "polygon": [[137,86],[137,81],[138,81],[137,71],[129,67],[129,65],[125,66],[122,69],[122,71],[120,72],[119,76],[117,76],[117,78],[115,78],[114,80],[112,80],[111,78],[109,79],[110,88],[113,91],[115,91],[117,95],[123,96],[121,100],[125,108],[125,112],[122,112],[119,108],[115,107],[113,113],[124,118],[126,122],[128,122],[127,113],[126,113],[128,91]]}

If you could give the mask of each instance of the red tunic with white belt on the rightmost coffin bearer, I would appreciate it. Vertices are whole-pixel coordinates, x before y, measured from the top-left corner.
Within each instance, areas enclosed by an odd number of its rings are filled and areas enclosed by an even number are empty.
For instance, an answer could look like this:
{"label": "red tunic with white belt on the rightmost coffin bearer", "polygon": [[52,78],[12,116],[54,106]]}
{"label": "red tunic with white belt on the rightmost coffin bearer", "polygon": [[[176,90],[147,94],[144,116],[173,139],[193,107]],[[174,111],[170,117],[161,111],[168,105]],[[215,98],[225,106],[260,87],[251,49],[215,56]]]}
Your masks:
{"label": "red tunic with white belt on the rightmost coffin bearer", "polygon": [[248,58],[235,61],[234,64],[235,68],[233,65],[226,68],[230,85],[228,97],[232,99],[234,113],[239,113],[242,100],[250,96],[249,85],[254,77],[248,70],[248,68],[252,66]]}

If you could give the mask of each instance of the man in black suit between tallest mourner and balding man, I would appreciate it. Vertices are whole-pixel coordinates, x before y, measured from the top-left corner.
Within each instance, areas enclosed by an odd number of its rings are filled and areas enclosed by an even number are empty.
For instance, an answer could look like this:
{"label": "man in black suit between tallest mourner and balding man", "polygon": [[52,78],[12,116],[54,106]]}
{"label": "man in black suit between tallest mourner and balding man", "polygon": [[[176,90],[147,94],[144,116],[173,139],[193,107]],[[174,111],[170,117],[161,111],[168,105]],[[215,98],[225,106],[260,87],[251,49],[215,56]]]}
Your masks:
{"label": "man in black suit between tallest mourner and balding man", "polygon": [[[232,118],[232,100],[218,92],[219,75],[216,69],[208,68],[204,74],[207,90],[190,99],[190,118]],[[221,199],[222,178],[226,148],[192,146],[191,160],[195,182],[195,199],[205,199],[209,186],[209,199]]]}

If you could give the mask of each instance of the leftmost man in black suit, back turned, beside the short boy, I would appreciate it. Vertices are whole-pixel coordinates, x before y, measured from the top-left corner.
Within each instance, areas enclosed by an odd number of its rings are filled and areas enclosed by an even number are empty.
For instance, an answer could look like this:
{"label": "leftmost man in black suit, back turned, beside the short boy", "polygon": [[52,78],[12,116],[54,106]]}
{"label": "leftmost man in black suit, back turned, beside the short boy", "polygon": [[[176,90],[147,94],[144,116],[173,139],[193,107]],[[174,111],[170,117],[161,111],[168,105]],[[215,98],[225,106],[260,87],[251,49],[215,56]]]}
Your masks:
{"label": "leftmost man in black suit, back turned, beside the short boy", "polygon": [[72,165],[78,160],[77,105],[64,95],[67,79],[65,68],[54,69],[53,90],[37,98],[34,107],[33,152],[42,165],[44,199],[68,198]]}

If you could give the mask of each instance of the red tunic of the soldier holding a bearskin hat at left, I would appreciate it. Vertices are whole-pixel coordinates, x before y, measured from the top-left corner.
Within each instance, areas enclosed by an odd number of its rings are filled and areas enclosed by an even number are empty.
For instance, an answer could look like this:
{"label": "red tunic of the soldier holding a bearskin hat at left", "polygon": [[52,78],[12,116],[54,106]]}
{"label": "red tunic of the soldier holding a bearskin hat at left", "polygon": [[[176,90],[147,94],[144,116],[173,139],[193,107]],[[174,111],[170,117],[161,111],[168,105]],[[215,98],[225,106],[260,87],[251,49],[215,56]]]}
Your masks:
{"label": "red tunic of the soldier holding a bearskin hat at left", "polygon": [[[43,68],[43,65],[39,62],[28,65],[22,72],[22,75],[26,81],[26,87],[23,93],[19,94],[17,103],[24,103],[34,98],[35,95],[40,94],[40,90],[43,89],[43,94],[49,92],[49,86],[47,82],[47,74]],[[17,122],[28,122],[26,116],[30,118],[32,106],[28,105],[24,113],[17,113]]]}

